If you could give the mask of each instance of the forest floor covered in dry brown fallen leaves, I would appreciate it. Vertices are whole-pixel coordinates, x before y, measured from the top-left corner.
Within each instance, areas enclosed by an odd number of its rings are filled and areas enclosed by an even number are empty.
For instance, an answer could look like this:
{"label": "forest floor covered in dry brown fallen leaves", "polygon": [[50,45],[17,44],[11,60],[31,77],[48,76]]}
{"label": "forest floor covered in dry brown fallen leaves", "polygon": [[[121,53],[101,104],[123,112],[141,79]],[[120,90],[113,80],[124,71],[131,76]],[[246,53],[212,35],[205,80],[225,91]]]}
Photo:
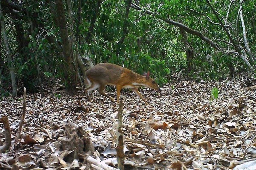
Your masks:
{"label": "forest floor covered in dry brown fallen leaves", "polygon": [[[161,92],[139,89],[149,105],[121,91],[125,169],[256,169],[255,84],[173,80]],[[211,100],[213,87],[219,96]],[[118,105],[96,90],[90,103],[81,89],[71,97],[59,86],[45,88],[27,93],[18,142],[23,96],[0,101],[12,131],[0,169],[97,169],[88,158],[116,167]],[[116,100],[115,92],[108,94]]]}

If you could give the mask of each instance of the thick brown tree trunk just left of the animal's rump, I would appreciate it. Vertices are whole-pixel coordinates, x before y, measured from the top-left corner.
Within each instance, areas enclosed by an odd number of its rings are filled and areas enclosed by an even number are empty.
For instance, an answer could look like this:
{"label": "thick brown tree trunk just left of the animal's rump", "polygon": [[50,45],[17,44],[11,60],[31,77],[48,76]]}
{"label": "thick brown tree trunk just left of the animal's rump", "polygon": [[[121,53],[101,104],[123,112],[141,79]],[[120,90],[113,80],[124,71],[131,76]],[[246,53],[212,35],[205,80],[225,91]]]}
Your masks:
{"label": "thick brown tree trunk just left of the animal's rump", "polygon": [[64,14],[63,2],[62,0],[56,0],[56,12],[57,18],[60,24],[60,37],[63,46],[64,55],[64,79],[65,79],[65,90],[69,95],[76,94],[77,76],[72,65],[72,57],[70,52],[70,42],[68,39],[68,30],[66,25],[66,19]]}

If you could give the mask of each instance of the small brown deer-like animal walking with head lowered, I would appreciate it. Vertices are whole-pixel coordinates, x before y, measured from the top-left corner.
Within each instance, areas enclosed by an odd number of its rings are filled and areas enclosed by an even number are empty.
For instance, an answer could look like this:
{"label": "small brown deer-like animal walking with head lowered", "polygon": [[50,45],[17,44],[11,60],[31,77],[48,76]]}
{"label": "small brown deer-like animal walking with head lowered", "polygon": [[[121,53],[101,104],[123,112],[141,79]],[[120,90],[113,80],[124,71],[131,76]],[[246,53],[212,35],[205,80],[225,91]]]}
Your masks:
{"label": "small brown deer-like animal walking with head lowered", "polygon": [[[149,77],[149,72],[146,76],[137,74],[127,68],[118,66],[116,64],[110,63],[100,63],[86,71],[87,79],[92,83],[92,85],[85,89],[85,93],[89,100],[91,98],[89,96],[89,92],[98,89],[100,94],[108,97],[112,101],[114,99],[108,96],[105,92],[105,86],[107,84],[116,86],[116,93],[117,93],[117,103],[120,95],[120,90],[123,88],[131,88],[132,91],[138,95],[146,104],[146,100],[140,95],[138,91],[138,87],[145,86],[151,89],[155,89],[160,91],[156,82]],[[132,84],[133,83],[133,84]]]}

